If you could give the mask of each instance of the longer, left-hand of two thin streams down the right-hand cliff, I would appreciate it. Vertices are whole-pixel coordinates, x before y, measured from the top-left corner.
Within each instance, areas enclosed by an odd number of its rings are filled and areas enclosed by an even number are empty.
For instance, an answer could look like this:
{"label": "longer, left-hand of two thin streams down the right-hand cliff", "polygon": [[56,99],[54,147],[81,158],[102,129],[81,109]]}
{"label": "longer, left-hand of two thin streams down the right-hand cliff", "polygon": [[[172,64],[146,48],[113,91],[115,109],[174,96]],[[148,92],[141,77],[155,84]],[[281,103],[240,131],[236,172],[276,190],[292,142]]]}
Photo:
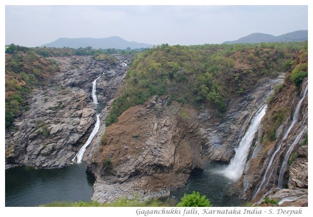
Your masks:
{"label": "longer, left-hand of two thin streams down the right-hand cliff", "polygon": [[264,187],[265,182],[266,182],[266,184],[269,183],[269,180],[270,180],[270,178],[271,178],[272,175],[273,175],[273,170],[274,170],[274,169],[272,168],[272,171],[271,171],[271,173],[270,173],[270,176],[267,176],[267,174],[268,174],[270,168],[271,168],[272,165],[273,165],[274,159],[275,159],[275,160],[277,159],[277,158],[276,158],[276,154],[280,151],[283,141],[288,137],[288,135],[289,135],[289,133],[290,133],[290,131],[291,131],[291,128],[292,128],[292,127],[294,126],[294,124],[298,121],[299,113],[300,113],[300,108],[301,108],[301,104],[302,104],[302,101],[303,101],[304,97],[306,96],[306,92],[307,92],[307,86],[305,87],[305,89],[304,89],[304,91],[303,91],[303,96],[302,96],[302,98],[299,100],[299,102],[298,102],[298,104],[297,104],[297,106],[296,106],[296,109],[295,109],[294,114],[293,114],[292,122],[290,123],[290,125],[289,125],[289,127],[288,127],[286,133],[284,134],[283,138],[280,140],[278,146],[276,147],[275,152],[274,152],[273,155],[271,156],[271,158],[270,158],[270,160],[269,160],[269,163],[268,163],[268,166],[267,166],[267,168],[266,168],[266,170],[265,170],[264,176],[263,176],[263,178],[262,178],[262,181],[260,182],[258,189],[254,192],[253,197]]}

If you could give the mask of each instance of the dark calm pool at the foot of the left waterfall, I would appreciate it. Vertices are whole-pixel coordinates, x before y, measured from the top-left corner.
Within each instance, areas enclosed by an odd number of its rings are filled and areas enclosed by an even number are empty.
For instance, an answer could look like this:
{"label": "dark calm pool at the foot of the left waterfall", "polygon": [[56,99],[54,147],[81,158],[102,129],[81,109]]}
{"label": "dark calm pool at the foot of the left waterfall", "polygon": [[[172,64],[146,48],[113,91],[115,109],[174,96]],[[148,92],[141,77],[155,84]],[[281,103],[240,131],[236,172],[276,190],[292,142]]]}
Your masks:
{"label": "dark calm pool at the foot of the left waterfall", "polygon": [[21,166],[6,170],[6,206],[90,200],[94,179],[85,166],[81,162],[62,169]]}

